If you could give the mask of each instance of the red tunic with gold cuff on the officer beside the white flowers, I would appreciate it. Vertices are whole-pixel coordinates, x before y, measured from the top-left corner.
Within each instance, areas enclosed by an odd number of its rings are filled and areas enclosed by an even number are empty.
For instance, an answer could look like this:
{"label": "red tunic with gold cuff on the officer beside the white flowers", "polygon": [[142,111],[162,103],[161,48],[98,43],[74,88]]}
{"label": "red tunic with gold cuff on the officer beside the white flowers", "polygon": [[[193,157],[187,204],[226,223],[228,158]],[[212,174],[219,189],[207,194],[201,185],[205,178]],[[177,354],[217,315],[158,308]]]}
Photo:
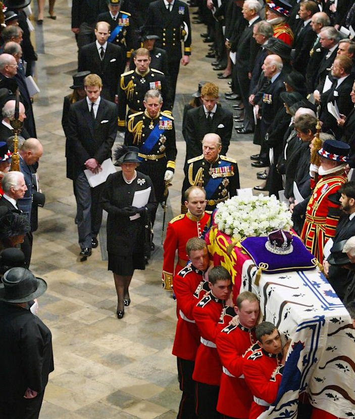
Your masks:
{"label": "red tunic with gold cuff on the officer beside the white flowers", "polygon": [[186,243],[192,237],[201,237],[206,224],[209,225],[211,212],[205,211],[199,217],[187,214],[180,214],[173,218],[167,228],[167,235],[164,242],[164,260],[162,281],[165,289],[169,290],[173,285],[173,272],[176,249],[178,250],[178,263],[175,266],[175,275],[180,272],[188,260],[186,255]]}

